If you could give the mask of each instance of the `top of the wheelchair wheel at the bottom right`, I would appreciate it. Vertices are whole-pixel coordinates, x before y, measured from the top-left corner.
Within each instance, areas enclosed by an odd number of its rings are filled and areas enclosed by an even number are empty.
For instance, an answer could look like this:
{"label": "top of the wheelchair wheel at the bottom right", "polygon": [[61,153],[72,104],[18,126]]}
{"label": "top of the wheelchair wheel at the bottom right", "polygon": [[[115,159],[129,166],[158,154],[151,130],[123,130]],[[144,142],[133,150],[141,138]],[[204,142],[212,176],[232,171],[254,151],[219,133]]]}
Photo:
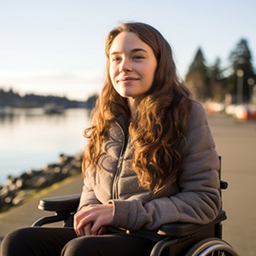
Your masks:
{"label": "top of the wheelchair wheel at the bottom right", "polygon": [[239,256],[226,241],[215,237],[203,239],[189,249],[185,256]]}

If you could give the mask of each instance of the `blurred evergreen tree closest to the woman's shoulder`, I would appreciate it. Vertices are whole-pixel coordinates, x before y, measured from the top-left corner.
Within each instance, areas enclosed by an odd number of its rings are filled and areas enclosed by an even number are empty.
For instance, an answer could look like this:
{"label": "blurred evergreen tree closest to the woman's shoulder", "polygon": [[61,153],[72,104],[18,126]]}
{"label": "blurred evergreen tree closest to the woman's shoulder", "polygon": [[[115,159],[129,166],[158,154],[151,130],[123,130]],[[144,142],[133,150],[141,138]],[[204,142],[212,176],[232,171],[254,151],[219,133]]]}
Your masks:
{"label": "blurred evergreen tree closest to the woman's shoulder", "polygon": [[211,96],[209,70],[200,47],[197,49],[195,58],[189,66],[185,81],[196,100],[205,102]]}

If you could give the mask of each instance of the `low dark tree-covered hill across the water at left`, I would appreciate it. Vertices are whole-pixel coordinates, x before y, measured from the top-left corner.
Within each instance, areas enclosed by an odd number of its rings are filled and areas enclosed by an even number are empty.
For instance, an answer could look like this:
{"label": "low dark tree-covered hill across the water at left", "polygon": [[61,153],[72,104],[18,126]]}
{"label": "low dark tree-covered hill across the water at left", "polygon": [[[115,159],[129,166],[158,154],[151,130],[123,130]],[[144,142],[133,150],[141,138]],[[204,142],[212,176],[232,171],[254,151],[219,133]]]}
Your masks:
{"label": "low dark tree-covered hill across the water at left", "polygon": [[43,108],[47,104],[54,104],[61,108],[93,108],[97,95],[90,96],[86,101],[71,101],[67,97],[61,96],[40,96],[26,94],[20,96],[14,90],[3,90],[0,88],[0,108]]}

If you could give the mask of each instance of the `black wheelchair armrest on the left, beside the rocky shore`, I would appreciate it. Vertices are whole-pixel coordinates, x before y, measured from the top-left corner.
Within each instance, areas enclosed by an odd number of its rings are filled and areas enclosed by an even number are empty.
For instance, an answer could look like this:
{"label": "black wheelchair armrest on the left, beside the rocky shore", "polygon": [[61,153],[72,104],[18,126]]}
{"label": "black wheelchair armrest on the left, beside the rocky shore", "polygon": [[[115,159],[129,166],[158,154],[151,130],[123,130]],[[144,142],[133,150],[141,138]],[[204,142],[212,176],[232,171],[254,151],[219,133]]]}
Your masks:
{"label": "black wheelchair armrest on the left, beside the rocky shore", "polygon": [[80,194],[44,198],[39,201],[38,209],[49,212],[76,212]]}

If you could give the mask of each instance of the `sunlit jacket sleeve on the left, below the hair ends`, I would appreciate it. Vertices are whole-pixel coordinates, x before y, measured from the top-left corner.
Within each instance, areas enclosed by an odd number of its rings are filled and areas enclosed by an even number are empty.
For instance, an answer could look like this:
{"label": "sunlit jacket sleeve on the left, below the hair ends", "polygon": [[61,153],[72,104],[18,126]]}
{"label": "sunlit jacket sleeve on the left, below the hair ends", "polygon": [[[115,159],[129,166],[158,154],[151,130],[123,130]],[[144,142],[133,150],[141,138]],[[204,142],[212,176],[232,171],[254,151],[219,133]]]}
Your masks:
{"label": "sunlit jacket sleeve on the left, below the hair ends", "polygon": [[78,211],[85,206],[100,204],[101,202],[97,200],[94,190],[91,184],[91,175],[95,175],[95,172],[90,170],[90,172],[86,172],[86,176],[84,177],[84,186],[81,194],[79,208]]}

